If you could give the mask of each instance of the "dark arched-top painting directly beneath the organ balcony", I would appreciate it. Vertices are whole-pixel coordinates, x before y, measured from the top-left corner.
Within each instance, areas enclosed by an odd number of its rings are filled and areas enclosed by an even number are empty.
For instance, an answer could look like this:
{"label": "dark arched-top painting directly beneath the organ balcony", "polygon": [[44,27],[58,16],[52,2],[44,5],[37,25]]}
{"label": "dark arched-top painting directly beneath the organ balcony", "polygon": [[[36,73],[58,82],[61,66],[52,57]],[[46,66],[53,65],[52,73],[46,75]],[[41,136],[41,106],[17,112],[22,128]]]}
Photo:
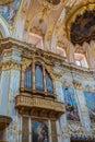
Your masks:
{"label": "dark arched-top painting directly beneath the organ balcony", "polygon": [[45,121],[34,121],[32,125],[33,142],[49,142],[48,125]]}

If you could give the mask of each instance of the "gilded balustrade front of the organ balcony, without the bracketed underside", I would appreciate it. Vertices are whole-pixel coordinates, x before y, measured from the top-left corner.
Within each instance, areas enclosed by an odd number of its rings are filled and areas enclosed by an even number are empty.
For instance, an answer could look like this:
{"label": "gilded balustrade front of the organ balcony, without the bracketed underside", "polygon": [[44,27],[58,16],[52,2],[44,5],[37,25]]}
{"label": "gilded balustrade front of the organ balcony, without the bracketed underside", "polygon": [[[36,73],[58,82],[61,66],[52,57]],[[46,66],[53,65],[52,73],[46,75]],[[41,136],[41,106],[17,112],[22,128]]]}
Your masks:
{"label": "gilded balustrade front of the organ balcony, without the bracketed underside", "polygon": [[64,113],[64,105],[63,103],[40,98],[36,96],[25,96],[25,95],[17,95],[15,97],[15,107],[17,109],[34,109],[35,110],[43,110],[56,114],[58,116]]}

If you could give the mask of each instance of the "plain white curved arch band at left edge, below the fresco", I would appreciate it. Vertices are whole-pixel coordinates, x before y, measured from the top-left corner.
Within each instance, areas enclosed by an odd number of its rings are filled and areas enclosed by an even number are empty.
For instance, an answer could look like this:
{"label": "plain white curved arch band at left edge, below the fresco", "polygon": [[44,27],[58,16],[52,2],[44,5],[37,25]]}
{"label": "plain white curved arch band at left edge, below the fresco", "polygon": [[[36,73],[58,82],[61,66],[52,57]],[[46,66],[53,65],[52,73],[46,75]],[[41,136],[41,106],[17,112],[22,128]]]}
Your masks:
{"label": "plain white curved arch band at left edge, below the fresco", "polygon": [[0,15],[0,32],[3,37],[10,37],[10,31],[5,20]]}

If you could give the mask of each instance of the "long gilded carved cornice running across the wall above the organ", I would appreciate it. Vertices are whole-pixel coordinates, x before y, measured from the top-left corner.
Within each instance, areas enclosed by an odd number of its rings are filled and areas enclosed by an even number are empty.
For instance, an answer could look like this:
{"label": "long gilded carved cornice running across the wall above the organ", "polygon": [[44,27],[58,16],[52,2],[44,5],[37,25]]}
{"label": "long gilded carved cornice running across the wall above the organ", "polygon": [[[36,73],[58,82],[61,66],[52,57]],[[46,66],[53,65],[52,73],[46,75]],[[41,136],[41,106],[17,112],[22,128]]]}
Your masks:
{"label": "long gilded carved cornice running across the wall above the organ", "polygon": [[[0,40],[0,52],[3,51],[3,49],[10,49],[10,48],[16,48],[20,49],[22,51],[22,57],[23,58],[27,58],[27,59],[32,59],[34,56],[37,58],[41,58],[46,64],[50,64],[51,67],[55,67],[56,64],[59,64],[59,68],[66,68],[66,70],[68,69],[69,71],[75,71],[82,74],[86,74],[92,75],[92,73],[95,73],[95,69],[87,69],[87,68],[82,68],[82,67],[78,67],[74,63],[69,63],[67,61],[64,61],[63,57],[58,56],[57,54],[50,52],[50,51],[45,51],[41,49],[38,49],[36,47],[32,47],[32,45],[26,44],[24,42],[17,40],[17,39],[13,39],[13,38],[4,38]],[[62,70],[60,71],[60,73],[58,73],[58,75],[62,74]]]}

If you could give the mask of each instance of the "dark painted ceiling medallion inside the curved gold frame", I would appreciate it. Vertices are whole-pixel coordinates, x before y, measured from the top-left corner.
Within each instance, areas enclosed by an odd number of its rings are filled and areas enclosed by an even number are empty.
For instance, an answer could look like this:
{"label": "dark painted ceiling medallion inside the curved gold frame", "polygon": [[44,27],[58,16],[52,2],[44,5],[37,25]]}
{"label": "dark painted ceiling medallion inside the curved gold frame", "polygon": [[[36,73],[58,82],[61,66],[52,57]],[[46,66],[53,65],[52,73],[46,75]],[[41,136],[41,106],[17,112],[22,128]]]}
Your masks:
{"label": "dark painted ceiling medallion inside the curved gold frame", "polygon": [[73,45],[83,45],[95,40],[95,10],[85,11],[82,15],[78,15],[71,24],[70,38]]}

